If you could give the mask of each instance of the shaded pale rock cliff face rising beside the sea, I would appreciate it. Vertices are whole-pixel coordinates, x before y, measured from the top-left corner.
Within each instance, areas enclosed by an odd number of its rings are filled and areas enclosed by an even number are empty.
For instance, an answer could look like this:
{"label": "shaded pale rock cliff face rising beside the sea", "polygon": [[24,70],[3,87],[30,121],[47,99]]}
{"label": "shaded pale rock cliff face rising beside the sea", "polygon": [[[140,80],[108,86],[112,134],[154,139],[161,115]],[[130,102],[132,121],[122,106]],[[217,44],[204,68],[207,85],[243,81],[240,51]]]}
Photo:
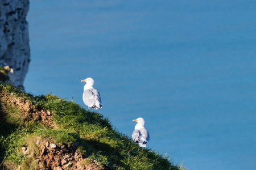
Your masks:
{"label": "shaded pale rock cliff face rising beside the sea", "polygon": [[9,66],[5,82],[22,89],[30,63],[28,8],[28,0],[0,0],[0,66]]}

